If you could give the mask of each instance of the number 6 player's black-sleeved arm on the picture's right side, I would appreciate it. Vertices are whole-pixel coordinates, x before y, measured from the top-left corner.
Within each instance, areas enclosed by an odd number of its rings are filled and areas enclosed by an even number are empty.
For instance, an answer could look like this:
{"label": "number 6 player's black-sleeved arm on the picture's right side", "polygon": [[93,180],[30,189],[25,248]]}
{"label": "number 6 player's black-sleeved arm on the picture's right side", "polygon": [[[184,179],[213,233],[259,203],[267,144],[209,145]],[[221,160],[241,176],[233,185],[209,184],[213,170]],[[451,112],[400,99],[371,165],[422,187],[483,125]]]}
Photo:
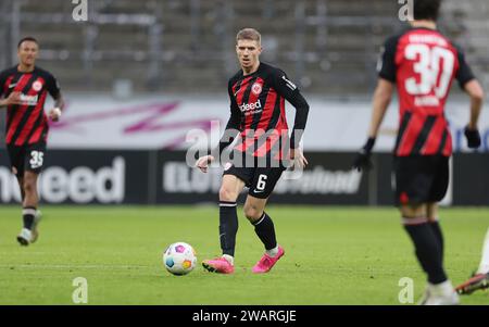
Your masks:
{"label": "number 6 player's black-sleeved arm on the picture's right side", "polygon": [[308,165],[299,144],[308,123],[309,103],[299,91],[299,88],[287,78],[285,73],[278,72],[275,76],[275,88],[290,104],[296,108],[292,135],[290,137],[290,159],[294,160],[300,167]]}

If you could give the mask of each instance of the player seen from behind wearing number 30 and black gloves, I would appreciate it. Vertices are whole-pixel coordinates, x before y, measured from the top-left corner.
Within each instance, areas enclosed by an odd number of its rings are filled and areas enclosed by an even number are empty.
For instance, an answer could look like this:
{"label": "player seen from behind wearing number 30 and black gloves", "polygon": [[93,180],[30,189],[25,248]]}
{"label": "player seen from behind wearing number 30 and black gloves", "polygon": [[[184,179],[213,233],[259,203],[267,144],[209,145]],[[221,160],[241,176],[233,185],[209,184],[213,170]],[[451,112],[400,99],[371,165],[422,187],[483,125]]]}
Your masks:
{"label": "player seen from behind wearing number 30 and black gloves", "polygon": [[471,97],[465,128],[469,148],[480,146],[477,121],[484,93],[464,54],[437,30],[441,0],[415,0],[411,28],[385,43],[379,80],[373,99],[368,140],[353,166],[371,166],[371,151],[394,87],[400,98],[400,126],[394,148],[396,201],[416,257],[428,275],[421,304],[457,304],[459,298],[443,269],[443,237],[437,202],[449,184],[452,139],[444,104],[452,80]]}

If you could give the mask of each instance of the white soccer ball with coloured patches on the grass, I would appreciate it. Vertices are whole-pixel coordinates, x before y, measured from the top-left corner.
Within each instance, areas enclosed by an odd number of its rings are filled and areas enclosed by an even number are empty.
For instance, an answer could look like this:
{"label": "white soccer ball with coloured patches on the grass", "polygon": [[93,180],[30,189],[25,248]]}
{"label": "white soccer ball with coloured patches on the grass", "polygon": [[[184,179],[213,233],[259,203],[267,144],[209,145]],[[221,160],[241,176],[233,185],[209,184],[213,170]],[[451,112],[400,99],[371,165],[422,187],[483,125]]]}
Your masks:
{"label": "white soccer ball with coloured patches on the grass", "polygon": [[163,264],[173,275],[187,275],[197,265],[196,251],[190,244],[173,243],[163,253]]}

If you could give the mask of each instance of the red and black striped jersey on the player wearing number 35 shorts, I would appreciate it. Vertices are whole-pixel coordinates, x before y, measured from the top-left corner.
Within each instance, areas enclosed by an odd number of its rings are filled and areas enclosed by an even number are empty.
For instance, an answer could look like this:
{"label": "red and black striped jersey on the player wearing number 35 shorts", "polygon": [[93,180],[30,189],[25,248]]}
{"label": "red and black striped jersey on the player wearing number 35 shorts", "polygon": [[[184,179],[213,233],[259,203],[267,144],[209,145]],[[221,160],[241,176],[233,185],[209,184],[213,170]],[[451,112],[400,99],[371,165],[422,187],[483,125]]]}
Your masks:
{"label": "red and black striped jersey on the player wearing number 35 shorts", "polygon": [[5,142],[22,147],[46,142],[49,125],[45,113],[48,92],[57,99],[60,87],[47,71],[35,67],[30,73],[18,72],[17,66],[0,73],[0,98],[21,92],[22,104],[7,109]]}

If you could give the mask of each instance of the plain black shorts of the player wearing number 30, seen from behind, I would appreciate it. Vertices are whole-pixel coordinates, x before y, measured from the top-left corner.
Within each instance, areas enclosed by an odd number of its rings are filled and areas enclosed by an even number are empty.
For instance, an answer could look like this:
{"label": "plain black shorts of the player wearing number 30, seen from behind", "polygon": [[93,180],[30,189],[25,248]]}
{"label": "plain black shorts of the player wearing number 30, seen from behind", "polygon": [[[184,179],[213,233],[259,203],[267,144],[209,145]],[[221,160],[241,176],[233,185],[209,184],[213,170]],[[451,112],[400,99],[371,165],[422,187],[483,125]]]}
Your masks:
{"label": "plain black shorts of the player wearing number 30, seen from behind", "polygon": [[394,156],[396,203],[441,201],[449,185],[449,158],[442,155]]}

